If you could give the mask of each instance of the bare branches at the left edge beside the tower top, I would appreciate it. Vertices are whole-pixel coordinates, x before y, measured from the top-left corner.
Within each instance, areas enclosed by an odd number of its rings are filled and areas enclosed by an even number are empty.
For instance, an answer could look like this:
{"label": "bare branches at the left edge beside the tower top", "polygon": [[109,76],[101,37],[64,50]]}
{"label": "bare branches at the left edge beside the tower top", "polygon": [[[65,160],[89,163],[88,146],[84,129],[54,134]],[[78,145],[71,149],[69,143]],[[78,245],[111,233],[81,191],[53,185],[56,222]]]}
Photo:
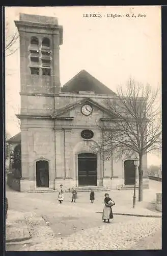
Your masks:
{"label": "bare branches at the left edge beside the tower top", "polygon": [[5,54],[6,57],[15,53],[18,49],[17,41],[19,38],[18,31],[11,32],[9,23],[6,21],[5,23]]}

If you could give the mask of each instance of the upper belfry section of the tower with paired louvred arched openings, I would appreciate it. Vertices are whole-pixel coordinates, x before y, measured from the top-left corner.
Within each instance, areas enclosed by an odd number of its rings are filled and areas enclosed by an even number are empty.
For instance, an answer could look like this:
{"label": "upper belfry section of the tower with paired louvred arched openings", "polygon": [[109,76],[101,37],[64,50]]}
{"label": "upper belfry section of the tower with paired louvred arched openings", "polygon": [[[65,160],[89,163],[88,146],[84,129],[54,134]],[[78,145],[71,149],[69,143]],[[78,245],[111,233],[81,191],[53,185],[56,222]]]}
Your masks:
{"label": "upper belfry section of the tower with paired louvred arched openings", "polygon": [[58,19],[20,13],[15,25],[20,37],[21,93],[59,93],[63,27]]}

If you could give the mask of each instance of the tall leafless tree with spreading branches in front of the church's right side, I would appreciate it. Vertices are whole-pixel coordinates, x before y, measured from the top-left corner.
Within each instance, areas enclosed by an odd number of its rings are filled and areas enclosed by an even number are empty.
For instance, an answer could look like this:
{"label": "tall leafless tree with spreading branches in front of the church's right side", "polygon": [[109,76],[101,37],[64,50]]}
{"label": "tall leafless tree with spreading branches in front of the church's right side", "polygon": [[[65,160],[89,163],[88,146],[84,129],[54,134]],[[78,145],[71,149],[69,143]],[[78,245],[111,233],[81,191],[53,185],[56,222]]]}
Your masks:
{"label": "tall leafless tree with spreading branches in front of the church's right side", "polygon": [[[139,157],[138,201],[143,200],[143,156],[161,146],[161,115],[158,89],[129,79],[125,92],[108,100],[111,119],[103,119],[101,149],[105,157],[136,154]],[[160,102],[160,101],[159,101]]]}

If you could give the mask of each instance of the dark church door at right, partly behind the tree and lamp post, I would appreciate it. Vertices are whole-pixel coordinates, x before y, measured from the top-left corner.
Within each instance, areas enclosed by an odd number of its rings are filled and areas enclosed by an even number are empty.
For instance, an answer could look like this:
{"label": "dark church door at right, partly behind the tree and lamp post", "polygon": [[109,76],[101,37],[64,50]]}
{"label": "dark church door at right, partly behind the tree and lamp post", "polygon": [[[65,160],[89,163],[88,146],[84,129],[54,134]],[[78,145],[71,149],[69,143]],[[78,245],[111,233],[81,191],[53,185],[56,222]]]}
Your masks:
{"label": "dark church door at right, partly behind the tree and lamp post", "polygon": [[133,160],[124,161],[125,185],[134,185],[135,165]]}

